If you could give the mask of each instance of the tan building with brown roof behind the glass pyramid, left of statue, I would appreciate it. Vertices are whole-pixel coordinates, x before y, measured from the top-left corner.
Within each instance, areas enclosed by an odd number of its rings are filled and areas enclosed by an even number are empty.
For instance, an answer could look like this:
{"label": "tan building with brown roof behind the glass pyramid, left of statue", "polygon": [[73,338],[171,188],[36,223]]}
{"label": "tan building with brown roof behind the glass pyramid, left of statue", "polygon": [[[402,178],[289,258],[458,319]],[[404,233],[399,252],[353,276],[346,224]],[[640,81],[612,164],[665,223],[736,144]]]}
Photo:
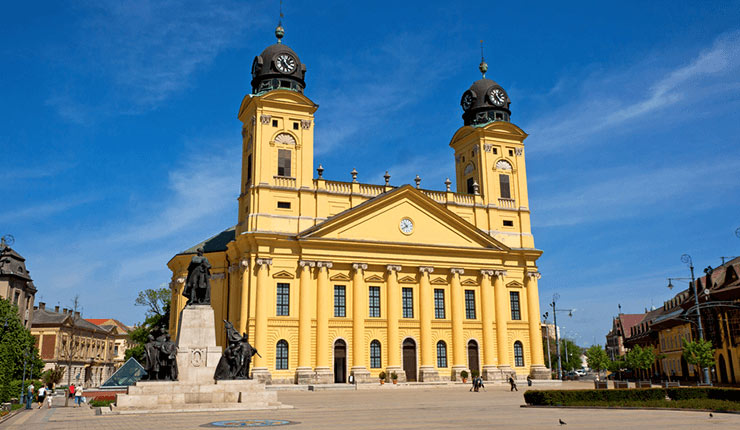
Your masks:
{"label": "tan building with brown roof behind the glass pyramid, left of statue", "polygon": [[100,386],[116,369],[114,354],[119,336],[115,327],[103,328],[83,319],[70,309],[54,310],[39,302],[31,334],[44,361],[44,370],[65,369],[62,384]]}

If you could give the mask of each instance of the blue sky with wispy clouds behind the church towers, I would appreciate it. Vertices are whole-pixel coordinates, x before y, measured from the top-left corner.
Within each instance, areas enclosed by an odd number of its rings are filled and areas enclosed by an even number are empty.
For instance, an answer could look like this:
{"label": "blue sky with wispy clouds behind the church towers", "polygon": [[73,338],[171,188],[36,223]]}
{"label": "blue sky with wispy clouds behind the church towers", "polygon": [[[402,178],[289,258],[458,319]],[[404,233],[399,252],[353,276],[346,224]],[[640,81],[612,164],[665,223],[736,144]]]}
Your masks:
{"label": "blue sky with wispy clouds behind the church towers", "polygon": [[[740,2],[286,0],[307,64],[316,165],[443,189],[460,96],[507,89],[526,141],[543,278],[604,342],[668,276],[740,255]],[[0,17],[0,234],[38,300],[140,321],[139,290],[236,220],[242,97],[277,1],[16,2]],[[681,284],[685,287],[685,284]],[[674,292],[675,293],[675,290]]]}

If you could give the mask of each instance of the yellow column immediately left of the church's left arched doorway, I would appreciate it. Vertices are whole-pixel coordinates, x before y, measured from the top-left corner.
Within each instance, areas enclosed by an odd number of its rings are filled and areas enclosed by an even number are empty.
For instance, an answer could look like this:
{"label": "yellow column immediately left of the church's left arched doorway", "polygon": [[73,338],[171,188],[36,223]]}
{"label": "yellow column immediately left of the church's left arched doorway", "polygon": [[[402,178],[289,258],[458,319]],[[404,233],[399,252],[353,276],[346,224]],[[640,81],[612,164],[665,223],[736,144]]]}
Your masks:
{"label": "yellow column immediately left of the church's left arched doorway", "polygon": [[334,373],[329,367],[329,261],[316,262],[316,382],[331,384]]}

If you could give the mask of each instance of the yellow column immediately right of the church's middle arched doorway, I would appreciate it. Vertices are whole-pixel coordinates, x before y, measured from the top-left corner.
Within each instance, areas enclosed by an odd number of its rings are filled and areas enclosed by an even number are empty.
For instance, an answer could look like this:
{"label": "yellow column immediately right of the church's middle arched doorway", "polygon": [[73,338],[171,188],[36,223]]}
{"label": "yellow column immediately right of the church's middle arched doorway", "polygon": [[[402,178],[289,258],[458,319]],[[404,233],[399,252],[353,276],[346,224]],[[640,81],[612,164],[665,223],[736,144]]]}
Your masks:
{"label": "yellow column immediately right of the church's middle arched doorway", "polygon": [[436,347],[432,344],[434,300],[432,298],[432,286],[429,283],[429,275],[433,272],[434,267],[419,267],[419,328],[421,332],[421,339],[419,339],[419,350],[421,352],[419,380],[423,382],[439,380],[439,373],[437,373],[434,363]]}

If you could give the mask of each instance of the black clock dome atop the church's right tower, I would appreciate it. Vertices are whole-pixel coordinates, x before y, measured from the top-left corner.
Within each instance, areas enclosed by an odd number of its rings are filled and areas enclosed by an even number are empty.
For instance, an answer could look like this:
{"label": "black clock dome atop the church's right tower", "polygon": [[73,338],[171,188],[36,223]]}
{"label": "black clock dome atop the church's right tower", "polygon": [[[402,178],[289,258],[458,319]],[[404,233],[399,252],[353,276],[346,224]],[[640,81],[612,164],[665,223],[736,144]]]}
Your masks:
{"label": "black clock dome atop the church's right tower", "polygon": [[509,121],[511,100],[506,90],[490,79],[482,78],[465,91],[460,99],[465,125],[491,121]]}

